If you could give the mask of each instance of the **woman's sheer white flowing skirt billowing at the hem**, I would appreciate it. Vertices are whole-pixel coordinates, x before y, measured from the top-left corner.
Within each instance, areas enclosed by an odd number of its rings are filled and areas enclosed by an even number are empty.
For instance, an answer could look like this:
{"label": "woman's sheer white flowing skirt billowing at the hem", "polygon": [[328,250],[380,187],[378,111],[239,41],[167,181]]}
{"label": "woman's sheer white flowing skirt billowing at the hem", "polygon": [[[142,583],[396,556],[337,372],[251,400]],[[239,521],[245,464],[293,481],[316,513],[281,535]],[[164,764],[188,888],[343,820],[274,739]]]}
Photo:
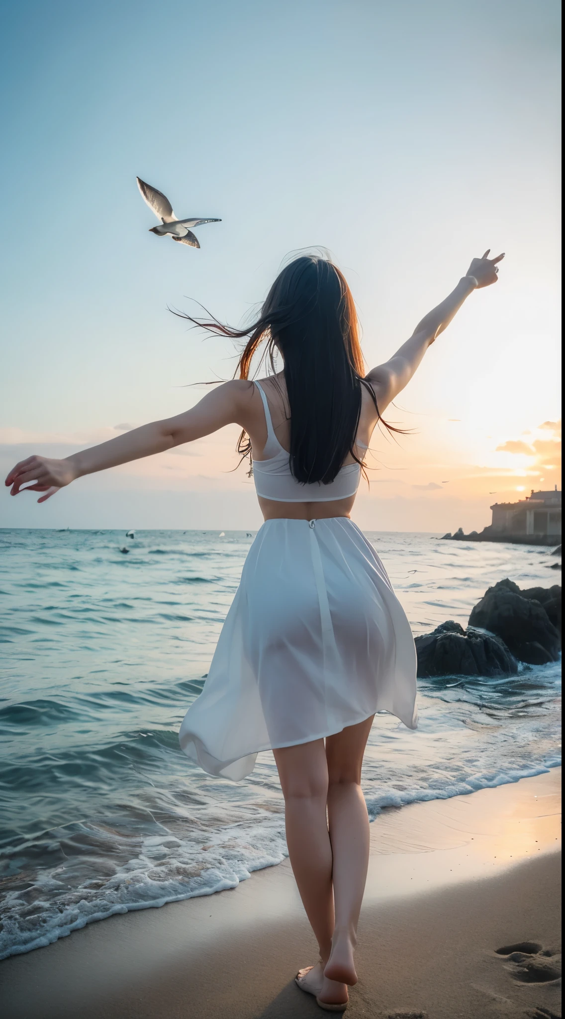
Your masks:
{"label": "woman's sheer white flowing skirt billowing at the hem", "polygon": [[258,532],[180,746],[235,782],[261,750],[386,710],[415,729],[416,655],[386,571],[347,517]]}

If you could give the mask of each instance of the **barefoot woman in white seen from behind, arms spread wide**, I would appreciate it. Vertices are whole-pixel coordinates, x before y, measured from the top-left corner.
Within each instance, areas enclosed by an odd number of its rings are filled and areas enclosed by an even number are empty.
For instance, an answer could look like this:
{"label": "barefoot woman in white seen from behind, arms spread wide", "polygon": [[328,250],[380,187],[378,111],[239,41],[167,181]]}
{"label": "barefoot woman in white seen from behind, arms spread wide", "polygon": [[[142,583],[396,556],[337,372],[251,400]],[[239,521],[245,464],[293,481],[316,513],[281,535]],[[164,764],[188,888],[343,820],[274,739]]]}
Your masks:
{"label": "barefoot woman in white seen from behind, arms spread wide", "polygon": [[[239,379],[195,407],[65,460],[30,457],[6,479],[45,502],[75,478],[190,442],[236,422],[252,454],[265,524],[247,555],[201,696],[180,743],[211,774],[240,780],[272,749],[286,807],[292,869],[320,947],[296,982],[321,1008],[343,1012],[369,862],[360,789],[375,712],[416,725],[416,659],[406,616],[374,548],[350,514],[364,450],[382,413],[503,256],[473,259],[467,275],[410,339],[363,377],[351,292],[331,262],[300,257],[273,284]],[[193,320],[191,320],[193,321]],[[248,380],[268,339],[272,373]],[[283,360],[276,372],[274,355]],[[382,419],[381,419],[382,420]],[[387,426],[389,427],[389,426]]]}

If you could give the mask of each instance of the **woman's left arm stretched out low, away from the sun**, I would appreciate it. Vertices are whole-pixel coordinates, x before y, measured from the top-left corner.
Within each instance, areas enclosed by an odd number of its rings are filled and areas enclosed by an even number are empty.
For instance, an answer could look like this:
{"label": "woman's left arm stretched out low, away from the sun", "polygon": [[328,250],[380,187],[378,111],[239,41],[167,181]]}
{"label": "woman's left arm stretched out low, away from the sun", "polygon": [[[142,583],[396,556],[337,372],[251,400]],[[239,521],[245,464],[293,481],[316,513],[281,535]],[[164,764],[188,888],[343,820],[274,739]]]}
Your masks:
{"label": "woman's left arm stretched out low, away from the sun", "polygon": [[210,435],[232,422],[240,424],[246,418],[250,387],[250,383],[239,380],[226,382],[207,393],[195,407],[184,414],[133,428],[124,435],[72,453],[65,460],[29,457],[16,464],[5,483],[12,486],[11,495],[17,495],[22,490],[22,485],[27,486],[24,491],[45,492],[38,499],[38,502],[45,502],[59,488],[83,474],[94,474],[109,467],[117,467],[118,464],[165,452],[183,442],[192,442],[204,435]]}

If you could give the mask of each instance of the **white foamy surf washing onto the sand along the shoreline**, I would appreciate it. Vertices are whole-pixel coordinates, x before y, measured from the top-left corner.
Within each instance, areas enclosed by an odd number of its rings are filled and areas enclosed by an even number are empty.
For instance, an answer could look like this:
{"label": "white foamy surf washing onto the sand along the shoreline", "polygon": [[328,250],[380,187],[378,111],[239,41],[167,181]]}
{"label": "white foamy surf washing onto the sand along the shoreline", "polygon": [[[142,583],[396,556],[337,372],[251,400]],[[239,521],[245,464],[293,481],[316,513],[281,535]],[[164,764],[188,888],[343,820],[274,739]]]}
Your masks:
{"label": "white foamy surf washing onto the sand along the shoreline", "polygon": [[[538,766],[469,775],[465,782],[442,788],[383,792],[365,797],[369,815],[373,821],[388,807],[492,789],[545,773],[560,763],[556,756]],[[273,817],[272,813],[258,817],[258,813],[253,823],[225,825],[220,835],[216,834],[204,846],[204,832],[199,832],[200,838],[194,842],[180,839],[164,827],[159,835],[140,839],[137,854],[126,862],[116,864],[106,857],[102,877],[83,876],[80,864],[74,873],[69,872],[72,867],[68,865],[63,872],[64,867],[58,862],[52,868],[43,868],[33,889],[19,890],[16,878],[13,891],[5,896],[0,960],[44,948],[88,923],[117,913],[161,907],[233,889],[253,871],[281,863],[288,855],[284,818]],[[105,846],[109,838],[115,843],[123,842],[119,833],[109,833],[107,827],[97,829],[93,824],[82,825],[79,834],[83,851],[91,844],[100,852],[101,845]],[[55,838],[56,833],[52,835],[49,850],[58,855],[61,841]],[[68,851],[67,839],[64,845],[67,860]]]}

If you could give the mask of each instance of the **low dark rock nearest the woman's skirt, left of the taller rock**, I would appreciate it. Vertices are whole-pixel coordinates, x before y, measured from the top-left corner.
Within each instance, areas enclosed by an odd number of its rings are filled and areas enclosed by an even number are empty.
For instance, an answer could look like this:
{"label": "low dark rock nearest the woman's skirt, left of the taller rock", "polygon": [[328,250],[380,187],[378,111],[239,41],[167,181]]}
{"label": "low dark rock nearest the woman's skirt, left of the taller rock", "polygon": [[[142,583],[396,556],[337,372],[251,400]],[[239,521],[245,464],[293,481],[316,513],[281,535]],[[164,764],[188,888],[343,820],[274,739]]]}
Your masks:
{"label": "low dark rock nearest the woman's skirt, left of the taller rock", "polygon": [[499,637],[484,634],[448,620],[434,633],[415,639],[417,675],[513,676],[518,663]]}

